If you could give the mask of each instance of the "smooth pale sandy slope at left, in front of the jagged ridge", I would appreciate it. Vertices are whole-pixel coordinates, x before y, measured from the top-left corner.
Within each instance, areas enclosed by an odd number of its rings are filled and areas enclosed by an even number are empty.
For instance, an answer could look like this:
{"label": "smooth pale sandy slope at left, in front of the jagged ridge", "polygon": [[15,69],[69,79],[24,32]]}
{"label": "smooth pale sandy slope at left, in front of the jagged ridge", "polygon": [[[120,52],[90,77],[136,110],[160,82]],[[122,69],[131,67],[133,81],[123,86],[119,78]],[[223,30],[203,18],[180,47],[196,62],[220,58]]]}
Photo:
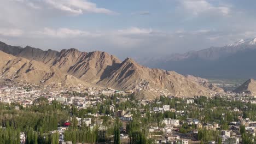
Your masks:
{"label": "smooth pale sandy slope at left, in front of the jagged ridge", "polygon": [[[88,85],[72,75],[38,61],[15,57],[0,51],[0,73],[13,81],[36,84],[62,83],[62,85]],[[89,85],[88,85],[89,86]]]}

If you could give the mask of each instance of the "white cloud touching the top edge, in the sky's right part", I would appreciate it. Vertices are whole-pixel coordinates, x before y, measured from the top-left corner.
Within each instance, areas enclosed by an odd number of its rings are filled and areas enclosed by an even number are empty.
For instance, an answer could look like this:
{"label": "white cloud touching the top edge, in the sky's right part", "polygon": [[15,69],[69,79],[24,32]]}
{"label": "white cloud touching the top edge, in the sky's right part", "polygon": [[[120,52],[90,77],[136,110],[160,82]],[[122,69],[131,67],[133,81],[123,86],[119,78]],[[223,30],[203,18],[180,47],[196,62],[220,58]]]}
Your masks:
{"label": "white cloud touching the top edge, in the sky's right part", "polygon": [[182,9],[187,10],[189,14],[194,16],[199,16],[205,13],[217,13],[223,16],[228,16],[230,14],[230,7],[228,5],[213,5],[206,0],[181,0]]}

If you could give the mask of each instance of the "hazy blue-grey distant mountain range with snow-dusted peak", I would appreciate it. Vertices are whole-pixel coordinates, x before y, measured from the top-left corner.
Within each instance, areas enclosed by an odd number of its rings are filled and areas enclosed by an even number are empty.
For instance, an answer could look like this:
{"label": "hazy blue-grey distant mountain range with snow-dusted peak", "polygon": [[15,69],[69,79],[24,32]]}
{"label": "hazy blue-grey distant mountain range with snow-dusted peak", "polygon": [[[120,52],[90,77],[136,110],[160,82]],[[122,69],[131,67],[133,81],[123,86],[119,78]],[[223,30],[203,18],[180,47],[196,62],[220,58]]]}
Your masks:
{"label": "hazy blue-grey distant mountain range with snow-dusted peak", "polygon": [[139,63],[150,68],[174,70],[183,75],[211,78],[256,77],[256,38],[239,40],[223,47],[146,58]]}

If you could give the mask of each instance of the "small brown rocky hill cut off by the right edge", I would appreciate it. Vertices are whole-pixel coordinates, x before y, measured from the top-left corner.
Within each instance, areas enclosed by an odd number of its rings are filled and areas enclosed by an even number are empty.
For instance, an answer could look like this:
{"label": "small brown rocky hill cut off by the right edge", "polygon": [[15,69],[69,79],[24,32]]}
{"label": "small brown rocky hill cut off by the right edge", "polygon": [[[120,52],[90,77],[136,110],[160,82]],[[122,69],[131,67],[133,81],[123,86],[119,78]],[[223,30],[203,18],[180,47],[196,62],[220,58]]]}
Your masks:
{"label": "small brown rocky hill cut off by the right edge", "polygon": [[249,95],[256,96],[256,81],[254,79],[249,79],[243,83],[240,87],[236,88],[236,93],[246,93]]}

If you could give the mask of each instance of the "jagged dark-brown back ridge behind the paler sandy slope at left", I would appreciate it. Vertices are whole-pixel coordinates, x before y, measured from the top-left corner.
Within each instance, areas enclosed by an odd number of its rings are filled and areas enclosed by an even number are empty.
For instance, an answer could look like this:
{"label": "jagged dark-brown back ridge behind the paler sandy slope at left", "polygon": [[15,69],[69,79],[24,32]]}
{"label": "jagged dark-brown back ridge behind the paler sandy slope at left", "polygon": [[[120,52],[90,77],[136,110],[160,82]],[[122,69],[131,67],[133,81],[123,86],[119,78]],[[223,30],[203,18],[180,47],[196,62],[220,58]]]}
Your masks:
{"label": "jagged dark-brown back ridge behind the paler sandy slope at left", "polygon": [[80,80],[97,83],[120,63],[120,60],[106,52],[80,52],[77,49],[64,49],[60,52],[43,51],[30,46],[22,49],[0,43],[0,50],[14,56],[43,62],[49,66],[59,68],[62,73],[73,75]]}

